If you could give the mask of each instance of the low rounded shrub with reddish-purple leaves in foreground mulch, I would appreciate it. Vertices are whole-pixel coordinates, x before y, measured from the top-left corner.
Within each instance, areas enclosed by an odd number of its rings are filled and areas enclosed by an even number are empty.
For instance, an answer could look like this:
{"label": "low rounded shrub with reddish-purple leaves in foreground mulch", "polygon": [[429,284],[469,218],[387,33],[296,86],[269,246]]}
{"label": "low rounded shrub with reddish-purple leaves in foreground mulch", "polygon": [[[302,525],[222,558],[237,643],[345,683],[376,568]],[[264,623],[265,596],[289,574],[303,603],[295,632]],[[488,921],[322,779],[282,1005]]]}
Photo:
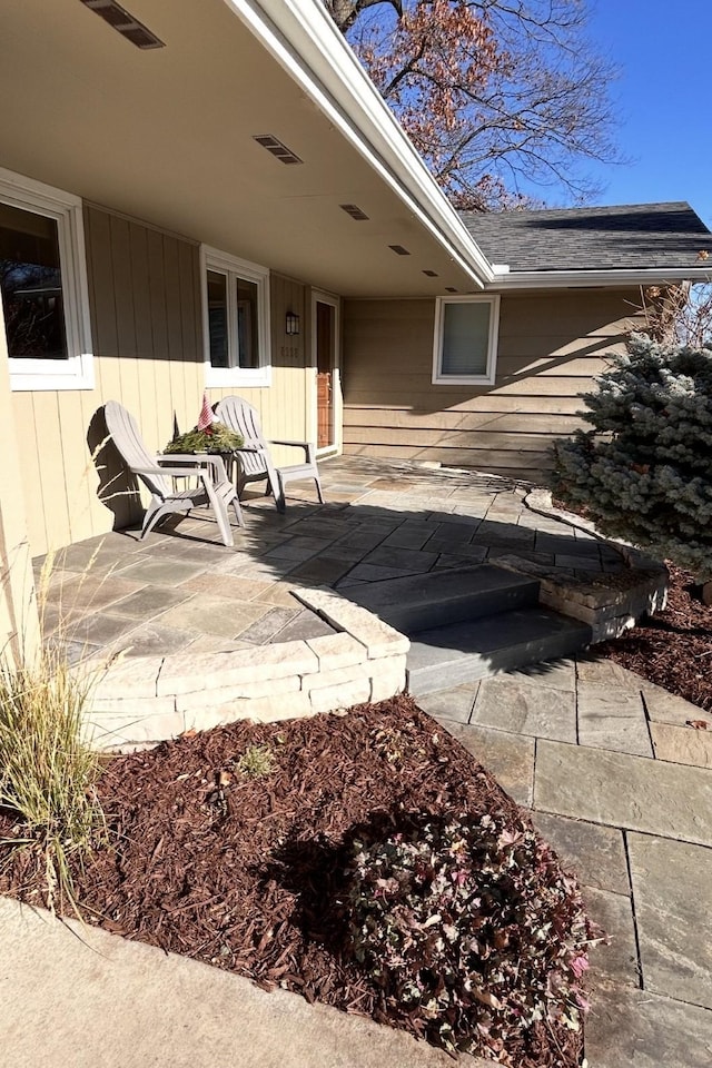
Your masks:
{"label": "low rounded shrub with reddish-purple leaves in foreground mulch", "polygon": [[576,881],[524,824],[416,817],[356,841],[347,886],[353,953],[431,1041],[510,1064],[522,1029],[578,1029],[594,931]]}

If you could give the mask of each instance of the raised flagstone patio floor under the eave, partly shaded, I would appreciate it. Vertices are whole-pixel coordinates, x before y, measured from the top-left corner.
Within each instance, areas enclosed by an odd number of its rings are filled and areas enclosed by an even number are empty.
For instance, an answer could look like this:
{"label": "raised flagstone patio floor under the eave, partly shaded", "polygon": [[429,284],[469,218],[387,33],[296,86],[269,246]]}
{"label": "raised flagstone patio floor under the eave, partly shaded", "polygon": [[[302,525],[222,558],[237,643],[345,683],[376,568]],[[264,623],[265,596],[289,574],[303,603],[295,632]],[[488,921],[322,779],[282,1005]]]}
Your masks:
{"label": "raised flagstone patio floor under the eave, partly shaded", "polygon": [[359,457],[320,469],[324,506],[313,483],[290,484],[285,514],[248,493],[230,548],[199,512],[144,541],[134,530],[60,550],[43,613],[48,639],[61,629],[72,661],[248,649],[333,633],[295,600],[296,587],[348,595],[384,578],[514,561],[560,590],[605,591],[625,571],[605,543],[527,507],[524,485]]}

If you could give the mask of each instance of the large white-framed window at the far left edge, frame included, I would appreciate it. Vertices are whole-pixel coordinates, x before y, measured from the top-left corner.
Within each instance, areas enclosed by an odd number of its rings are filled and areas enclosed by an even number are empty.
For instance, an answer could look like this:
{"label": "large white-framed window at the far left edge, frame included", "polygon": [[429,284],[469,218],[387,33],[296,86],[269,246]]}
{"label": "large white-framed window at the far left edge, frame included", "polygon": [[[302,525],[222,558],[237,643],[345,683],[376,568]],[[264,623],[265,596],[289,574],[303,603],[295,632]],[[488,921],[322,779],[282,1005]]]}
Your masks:
{"label": "large white-framed window at the far left edge, frame included", "polygon": [[1,169],[0,293],[12,388],[92,388],[81,201]]}

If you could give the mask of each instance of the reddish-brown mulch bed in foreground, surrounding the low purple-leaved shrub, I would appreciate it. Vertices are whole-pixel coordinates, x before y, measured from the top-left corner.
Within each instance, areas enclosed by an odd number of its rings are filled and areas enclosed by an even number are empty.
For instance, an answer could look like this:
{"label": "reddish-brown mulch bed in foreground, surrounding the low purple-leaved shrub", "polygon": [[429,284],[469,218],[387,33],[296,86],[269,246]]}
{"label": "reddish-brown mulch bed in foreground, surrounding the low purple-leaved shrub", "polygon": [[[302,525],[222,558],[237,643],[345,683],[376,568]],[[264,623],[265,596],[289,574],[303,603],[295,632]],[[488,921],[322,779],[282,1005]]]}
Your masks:
{"label": "reddish-brown mulch bed in foreground, surrounding the low purple-leaved shrub", "polygon": [[[276,762],[248,779],[236,761],[255,744]],[[500,813],[511,829],[526,820],[405,696],[344,716],[237,722],[118,756],[100,795],[112,848],[76,873],[90,922],[416,1036],[422,1025],[394,1018],[345,951],[337,903],[350,843],[359,828],[390,830],[416,810]],[[0,840],[11,830],[0,812]],[[40,902],[38,876],[18,852],[0,869],[0,892]],[[536,1025],[507,1052],[517,1068],[574,1068],[581,1035]]]}

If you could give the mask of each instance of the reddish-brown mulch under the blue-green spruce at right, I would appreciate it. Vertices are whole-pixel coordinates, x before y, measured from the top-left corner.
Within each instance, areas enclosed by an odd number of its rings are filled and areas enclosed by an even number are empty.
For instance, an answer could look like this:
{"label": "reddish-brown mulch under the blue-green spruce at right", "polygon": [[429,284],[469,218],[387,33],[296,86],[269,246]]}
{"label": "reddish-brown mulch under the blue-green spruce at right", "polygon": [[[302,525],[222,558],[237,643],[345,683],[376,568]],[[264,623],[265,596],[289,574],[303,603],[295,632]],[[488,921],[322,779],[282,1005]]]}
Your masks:
{"label": "reddish-brown mulch under the blue-green spruce at right", "polygon": [[694,576],[668,563],[670,591],[663,612],[641,620],[595,652],[649,682],[712,712],[712,607],[700,600]]}

